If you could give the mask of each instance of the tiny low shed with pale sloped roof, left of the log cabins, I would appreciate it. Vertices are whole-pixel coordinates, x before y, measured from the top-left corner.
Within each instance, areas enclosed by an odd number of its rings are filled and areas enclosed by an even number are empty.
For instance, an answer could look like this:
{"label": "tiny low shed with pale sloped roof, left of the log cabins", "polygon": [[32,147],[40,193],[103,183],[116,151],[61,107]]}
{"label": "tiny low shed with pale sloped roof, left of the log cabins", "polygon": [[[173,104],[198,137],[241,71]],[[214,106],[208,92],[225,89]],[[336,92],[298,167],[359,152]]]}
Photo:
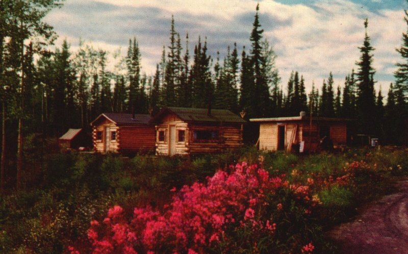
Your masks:
{"label": "tiny low shed with pale sloped roof, left of the log cabins", "polygon": [[58,139],[58,145],[62,149],[78,149],[90,147],[91,138],[83,129],[69,129]]}

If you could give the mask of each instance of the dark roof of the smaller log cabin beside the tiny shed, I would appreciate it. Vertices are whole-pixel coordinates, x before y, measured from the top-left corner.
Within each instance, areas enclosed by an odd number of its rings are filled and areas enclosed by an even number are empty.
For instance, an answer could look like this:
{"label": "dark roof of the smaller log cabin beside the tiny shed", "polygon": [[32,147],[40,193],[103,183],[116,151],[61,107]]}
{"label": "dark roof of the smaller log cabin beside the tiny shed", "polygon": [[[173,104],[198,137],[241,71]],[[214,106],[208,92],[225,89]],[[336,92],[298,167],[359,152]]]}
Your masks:
{"label": "dark roof of the smaller log cabin beside the tiny shed", "polygon": [[122,113],[102,113],[95,120],[91,122],[91,125],[96,125],[101,118],[106,118],[117,125],[137,125],[137,124],[149,124],[151,116],[148,114],[122,114]]}

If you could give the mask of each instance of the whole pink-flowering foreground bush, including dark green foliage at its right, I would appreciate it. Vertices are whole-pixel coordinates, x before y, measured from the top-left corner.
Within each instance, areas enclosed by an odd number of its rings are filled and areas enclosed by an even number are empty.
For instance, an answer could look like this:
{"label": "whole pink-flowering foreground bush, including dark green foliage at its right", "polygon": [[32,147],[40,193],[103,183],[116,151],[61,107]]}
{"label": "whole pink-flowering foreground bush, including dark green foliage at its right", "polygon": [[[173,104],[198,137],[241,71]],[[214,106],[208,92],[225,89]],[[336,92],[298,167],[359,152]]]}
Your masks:
{"label": "whole pink-flowering foreground bush, including dark green foliage at its right", "polygon": [[[308,239],[315,228],[308,218],[318,200],[309,186],[289,185],[256,164],[237,164],[231,170],[218,171],[206,184],[184,186],[163,210],[135,208],[130,221],[121,207],[111,208],[103,221],[91,222],[88,237],[94,253],[278,253],[314,248]],[[274,237],[281,226],[281,234]]]}

